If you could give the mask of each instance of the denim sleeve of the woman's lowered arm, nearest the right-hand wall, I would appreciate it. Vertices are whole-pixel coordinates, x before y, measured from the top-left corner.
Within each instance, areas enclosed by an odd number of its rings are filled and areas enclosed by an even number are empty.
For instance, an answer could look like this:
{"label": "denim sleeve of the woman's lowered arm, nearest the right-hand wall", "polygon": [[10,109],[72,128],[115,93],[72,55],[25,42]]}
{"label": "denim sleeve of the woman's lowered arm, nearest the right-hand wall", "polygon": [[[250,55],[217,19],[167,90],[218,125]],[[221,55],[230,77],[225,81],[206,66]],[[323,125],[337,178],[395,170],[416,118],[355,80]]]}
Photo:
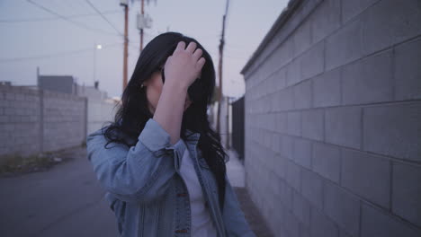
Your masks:
{"label": "denim sleeve of the woman's lowered arm, nearest the right-hand wall", "polygon": [[246,217],[239,206],[237,195],[232,189],[227,175],[225,180],[225,203],[222,218],[227,230],[227,236],[255,237],[255,233],[250,229]]}

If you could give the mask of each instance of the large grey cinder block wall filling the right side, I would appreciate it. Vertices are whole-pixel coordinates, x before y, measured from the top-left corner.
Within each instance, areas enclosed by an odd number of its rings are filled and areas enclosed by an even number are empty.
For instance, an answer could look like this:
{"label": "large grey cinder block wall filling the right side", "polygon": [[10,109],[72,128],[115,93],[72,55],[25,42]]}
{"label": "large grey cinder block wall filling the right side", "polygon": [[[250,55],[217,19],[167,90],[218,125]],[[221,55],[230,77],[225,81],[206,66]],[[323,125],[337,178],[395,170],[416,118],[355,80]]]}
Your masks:
{"label": "large grey cinder block wall filling the right side", "polygon": [[421,236],[421,2],[292,3],[243,69],[251,198],[275,236]]}

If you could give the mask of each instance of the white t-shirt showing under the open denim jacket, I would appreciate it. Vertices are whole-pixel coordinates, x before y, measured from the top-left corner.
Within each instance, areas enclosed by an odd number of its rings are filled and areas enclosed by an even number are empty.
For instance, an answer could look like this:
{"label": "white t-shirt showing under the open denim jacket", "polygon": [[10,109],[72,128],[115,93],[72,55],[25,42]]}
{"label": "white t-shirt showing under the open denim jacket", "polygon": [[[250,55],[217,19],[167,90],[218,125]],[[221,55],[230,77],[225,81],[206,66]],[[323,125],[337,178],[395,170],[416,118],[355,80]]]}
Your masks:
{"label": "white t-shirt showing under the open denim jacket", "polygon": [[[184,142],[184,141],[183,141]],[[180,173],[190,196],[192,210],[192,237],[216,237],[217,232],[210,218],[208,208],[204,205],[202,187],[193,166],[193,159],[188,149],[184,150]]]}

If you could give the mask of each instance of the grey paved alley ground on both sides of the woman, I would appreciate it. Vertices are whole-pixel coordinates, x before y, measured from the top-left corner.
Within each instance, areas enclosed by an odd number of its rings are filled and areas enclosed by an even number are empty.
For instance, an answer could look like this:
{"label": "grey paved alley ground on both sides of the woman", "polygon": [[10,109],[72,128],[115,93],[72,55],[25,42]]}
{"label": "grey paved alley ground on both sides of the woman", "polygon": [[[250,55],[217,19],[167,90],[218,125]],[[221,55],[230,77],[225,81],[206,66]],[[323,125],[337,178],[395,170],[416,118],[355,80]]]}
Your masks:
{"label": "grey paved alley ground on both sides of the woman", "polygon": [[[251,227],[270,237],[264,222],[244,189],[244,170],[229,152],[228,175]],[[49,171],[1,178],[0,220],[4,237],[118,236],[112,211],[103,190],[85,159],[85,148],[68,150],[67,162]]]}

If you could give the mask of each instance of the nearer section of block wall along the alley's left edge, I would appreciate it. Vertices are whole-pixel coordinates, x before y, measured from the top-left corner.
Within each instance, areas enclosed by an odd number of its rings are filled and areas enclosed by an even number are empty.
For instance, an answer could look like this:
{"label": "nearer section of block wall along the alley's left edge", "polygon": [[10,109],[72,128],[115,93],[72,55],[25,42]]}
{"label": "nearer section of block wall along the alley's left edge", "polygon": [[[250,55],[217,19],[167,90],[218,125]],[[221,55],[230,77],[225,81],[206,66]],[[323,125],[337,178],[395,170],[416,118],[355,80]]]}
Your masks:
{"label": "nearer section of block wall along the alley's left edge", "polygon": [[0,155],[29,155],[82,145],[86,100],[0,85],[0,134]]}

